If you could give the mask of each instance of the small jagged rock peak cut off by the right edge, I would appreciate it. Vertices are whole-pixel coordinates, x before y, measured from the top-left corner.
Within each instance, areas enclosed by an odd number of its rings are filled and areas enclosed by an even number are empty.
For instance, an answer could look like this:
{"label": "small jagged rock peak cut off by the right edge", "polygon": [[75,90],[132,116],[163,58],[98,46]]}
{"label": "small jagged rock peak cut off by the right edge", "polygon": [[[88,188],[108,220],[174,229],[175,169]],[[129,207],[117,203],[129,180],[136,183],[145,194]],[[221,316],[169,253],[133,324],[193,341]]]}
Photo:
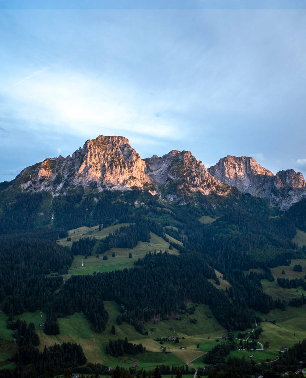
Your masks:
{"label": "small jagged rock peak cut off by the right edge", "polygon": [[300,172],[280,170],[274,177],[270,203],[282,211],[306,197],[306,182]]}

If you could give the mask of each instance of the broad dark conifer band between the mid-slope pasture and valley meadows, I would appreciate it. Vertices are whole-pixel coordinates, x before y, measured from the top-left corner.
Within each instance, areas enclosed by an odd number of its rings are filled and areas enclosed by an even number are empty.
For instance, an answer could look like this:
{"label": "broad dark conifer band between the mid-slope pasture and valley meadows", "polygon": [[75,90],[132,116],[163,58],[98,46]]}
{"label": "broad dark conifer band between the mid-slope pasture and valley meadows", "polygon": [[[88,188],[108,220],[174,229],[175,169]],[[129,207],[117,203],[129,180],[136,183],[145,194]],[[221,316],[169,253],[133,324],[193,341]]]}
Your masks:
{"label": "broad dark conifer band between the mid-slope pasture and valley meadows", "polygon": [[[178,310],[192,301],[211,305],[225,327],[250,327],[255,320],[254,311],[243,301],[231,304],[223,291],[208,282],[210,278],[216,279],[214,271],[196,253],[149,253],[140,268],[72,276],[55,300],[54,311],[58,316],[76,311],[89,315],[102,301],[115,300],[123,308],[122,319],[139,327],[142,321],[178,317]],[[103,311],[101,308],[102,314]],[[96,326],[96,320],[91,320]]]}

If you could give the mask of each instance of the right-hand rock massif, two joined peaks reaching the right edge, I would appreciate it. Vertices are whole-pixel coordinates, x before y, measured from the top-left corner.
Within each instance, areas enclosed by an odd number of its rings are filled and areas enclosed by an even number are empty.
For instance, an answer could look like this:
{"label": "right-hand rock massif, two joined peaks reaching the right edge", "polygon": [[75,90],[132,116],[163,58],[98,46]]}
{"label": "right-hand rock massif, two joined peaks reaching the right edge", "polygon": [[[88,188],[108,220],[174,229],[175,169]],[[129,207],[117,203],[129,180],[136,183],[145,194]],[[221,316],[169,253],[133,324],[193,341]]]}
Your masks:
{"label": "right-hand rock massif, two joined peaks reaching the right edge", "polygon": [[306,195],[303,175],[293,169],[282,170],[274,175],[248,156],[225,156],[208,172],[240,192],[256,197],[269,198],[272,206],[285,211]]}

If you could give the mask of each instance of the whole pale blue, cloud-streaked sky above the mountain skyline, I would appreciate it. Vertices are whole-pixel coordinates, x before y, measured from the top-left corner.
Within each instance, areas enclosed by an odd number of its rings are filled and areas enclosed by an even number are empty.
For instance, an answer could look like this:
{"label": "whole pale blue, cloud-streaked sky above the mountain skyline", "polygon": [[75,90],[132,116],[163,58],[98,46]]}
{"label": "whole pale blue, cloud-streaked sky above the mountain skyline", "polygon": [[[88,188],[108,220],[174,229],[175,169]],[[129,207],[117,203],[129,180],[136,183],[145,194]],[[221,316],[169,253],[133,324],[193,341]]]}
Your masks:
{"label": "whole pale blue, cloud-streaked sky above the mountain skyline", "polygon": [[23,3],[0,1],[0,181],[98,135],[306,176],[304,2]]}

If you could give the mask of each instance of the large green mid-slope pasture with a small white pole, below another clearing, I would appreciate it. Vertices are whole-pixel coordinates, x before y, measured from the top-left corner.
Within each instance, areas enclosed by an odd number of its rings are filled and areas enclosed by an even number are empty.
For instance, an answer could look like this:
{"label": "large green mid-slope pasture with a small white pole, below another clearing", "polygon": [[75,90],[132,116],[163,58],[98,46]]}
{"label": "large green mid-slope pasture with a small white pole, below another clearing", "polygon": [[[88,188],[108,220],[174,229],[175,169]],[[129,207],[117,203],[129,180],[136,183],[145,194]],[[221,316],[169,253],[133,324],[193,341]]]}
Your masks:
{"label": "large green mid-slope pasture with a small white pole, below another clearing", "polygon": [[[105,255],[108,256],[107,260],[103,260],[103,255],[97,259],[95,255],[87,257],[78,255],[75,256],[71,265],[69,276],[72,274],[92,274],[94,271],[99,272],[109,272],[115,269],[132,268],[134,266],[134,260],[142,258],[149,251],[153,252],[155,249],[162,252],[167,249],[169,253],[179,254],[176,248],[169,249],[169,243],[166,242],[161,237],[157,236],[153,232],[150,232],[150,242],[138,242],[138,245],[134,248],[112,248],[110,251],[106,251]],[[174,239],[175,240],[175,239]],[[156,244],[155,246],[147,247],[148,244]],[[115,252],[116,256],[112,257],[112,253]],[[129,259],[129,253],[132,253],[133,258]],[[82,267],[83,259],[83,267]],[[77,269],[73,267],[77,266]],[[68,277],[69,277],[68,276]]]}

